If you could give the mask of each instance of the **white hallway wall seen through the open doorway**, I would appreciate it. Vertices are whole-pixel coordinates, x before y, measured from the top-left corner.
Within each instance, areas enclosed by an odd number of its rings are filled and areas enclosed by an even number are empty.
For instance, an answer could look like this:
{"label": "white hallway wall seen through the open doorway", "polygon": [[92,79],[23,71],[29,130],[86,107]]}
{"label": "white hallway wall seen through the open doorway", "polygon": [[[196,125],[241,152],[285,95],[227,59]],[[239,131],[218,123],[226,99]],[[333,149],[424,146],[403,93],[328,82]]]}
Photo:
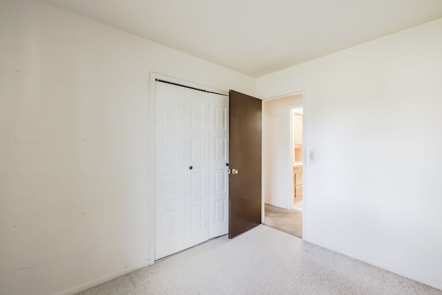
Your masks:
{"label": "white hallway wall seen through the open doorway", "polygon": [[293,209],[289,106],[294,105],[302,105],[302,94],[264,102],[265,202],[286,209]]}

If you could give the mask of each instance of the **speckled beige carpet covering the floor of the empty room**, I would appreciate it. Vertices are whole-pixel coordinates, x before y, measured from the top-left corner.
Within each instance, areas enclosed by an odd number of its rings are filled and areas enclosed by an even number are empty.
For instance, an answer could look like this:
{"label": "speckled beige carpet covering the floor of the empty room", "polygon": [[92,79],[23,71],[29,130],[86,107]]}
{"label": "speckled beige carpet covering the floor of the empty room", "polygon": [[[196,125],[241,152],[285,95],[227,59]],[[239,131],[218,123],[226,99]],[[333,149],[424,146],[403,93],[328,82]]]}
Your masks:
{"label": "speckled beige carpet covering the floor of the empty room", "polygon": [[442,291],[260,225],[163,258],[81,295],[442,295]]}

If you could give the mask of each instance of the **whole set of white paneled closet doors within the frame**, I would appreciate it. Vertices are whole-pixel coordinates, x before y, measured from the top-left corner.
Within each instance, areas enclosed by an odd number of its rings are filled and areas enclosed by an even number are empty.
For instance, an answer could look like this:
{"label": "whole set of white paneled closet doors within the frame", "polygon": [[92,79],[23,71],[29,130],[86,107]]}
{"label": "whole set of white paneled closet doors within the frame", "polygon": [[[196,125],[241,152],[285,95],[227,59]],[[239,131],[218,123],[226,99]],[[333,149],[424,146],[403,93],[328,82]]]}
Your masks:
{"label": "whole set of white paneled closet doors within the frame", "polygon": [[155,260],[227,234],[229,97],[155,82]]}

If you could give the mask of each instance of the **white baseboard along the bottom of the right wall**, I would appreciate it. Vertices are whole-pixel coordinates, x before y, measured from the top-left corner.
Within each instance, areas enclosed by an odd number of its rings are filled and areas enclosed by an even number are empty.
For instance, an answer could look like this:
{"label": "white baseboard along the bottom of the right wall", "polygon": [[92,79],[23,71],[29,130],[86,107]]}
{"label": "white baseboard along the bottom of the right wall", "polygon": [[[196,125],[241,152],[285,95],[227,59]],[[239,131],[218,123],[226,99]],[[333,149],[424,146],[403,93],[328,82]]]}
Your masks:
{"label": "white baseboard along the bottom of the right wall", "polygon": [[399,269],[399,268],[393,267],[391,265],[385,265],[384,263],[380,263],[379,261],[372,260],[371,258],[367,258],[362,255],[355,254],[352,251],[347,251],[346,249],[334,247],[334,246],[329,245],[329,244],[322,242],[320,240],[316,240],[316,239],[308,238],[308,237],[305,237],[304,240],[306,242],[311,242],[312,244],[318,245],[318,246],[323,247],[325,249],[335,251],[339,254],[343,254],[345,256],[349,256],[351,258],[363,261],[364,263],[368,263],[369,265],[374,265],[376,267],[380,267],[381,269],[385,269],[389,272],[393,272],[394,274],[398,274],[400,276],[405,276],[405,278],[410,278],[412,280],[416,280],[416,282],[423,283],[423,284],[428,285],[430,287],[434,287],[436,289],[442,290],[442,283],[436,282],[434,280],[430,280],[428,278],[424,278],[424,277],[419,276],[417,274],[413,274],[412,272],[407,272],[403,269]]}

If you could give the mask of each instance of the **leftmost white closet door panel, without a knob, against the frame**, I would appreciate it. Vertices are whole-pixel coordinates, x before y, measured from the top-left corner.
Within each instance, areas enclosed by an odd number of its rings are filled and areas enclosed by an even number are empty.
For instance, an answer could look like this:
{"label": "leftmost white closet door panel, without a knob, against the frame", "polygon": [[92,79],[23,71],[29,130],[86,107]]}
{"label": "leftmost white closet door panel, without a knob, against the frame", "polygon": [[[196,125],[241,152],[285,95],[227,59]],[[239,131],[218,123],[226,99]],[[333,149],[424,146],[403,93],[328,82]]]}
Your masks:
{"label": "leftmost white closet door panel, without a knob, against the frame", "polygon": [[155,259],[184,249],[184,89],[156,83]]}

